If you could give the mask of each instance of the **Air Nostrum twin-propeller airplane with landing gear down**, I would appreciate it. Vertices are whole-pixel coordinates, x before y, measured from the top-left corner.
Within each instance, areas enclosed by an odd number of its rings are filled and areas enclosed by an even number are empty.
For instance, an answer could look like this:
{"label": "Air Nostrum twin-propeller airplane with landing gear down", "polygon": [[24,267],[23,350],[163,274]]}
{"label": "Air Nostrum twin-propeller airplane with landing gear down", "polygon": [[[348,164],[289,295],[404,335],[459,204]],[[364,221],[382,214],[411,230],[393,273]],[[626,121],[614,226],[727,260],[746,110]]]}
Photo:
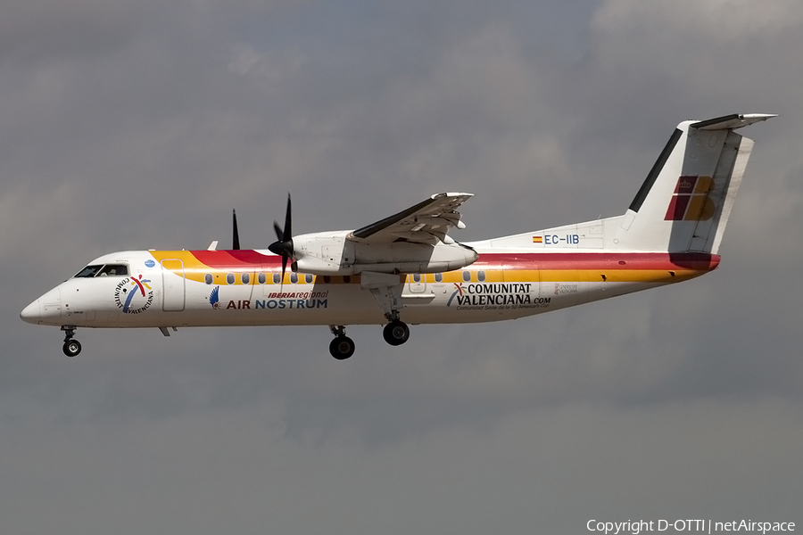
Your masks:
{"label": "Air Nostrum twin-propeller airplane with landing gear down", "polygon": [[[719,248],[753,142],[735,132],[776,117],[735,114],[681,122],[624,214],[459,243],[471,193],[437,193],[353,230],[293,235],[267,250],[120,251],[92,260],[34,300],[21,319],[60,326],[62,350],[81,352],[79,327],[327,325],[329,352],[352,357],[347,325],[500,321],[674,284],[704,275]],[[290,270],[287,270],[288,264]]]}

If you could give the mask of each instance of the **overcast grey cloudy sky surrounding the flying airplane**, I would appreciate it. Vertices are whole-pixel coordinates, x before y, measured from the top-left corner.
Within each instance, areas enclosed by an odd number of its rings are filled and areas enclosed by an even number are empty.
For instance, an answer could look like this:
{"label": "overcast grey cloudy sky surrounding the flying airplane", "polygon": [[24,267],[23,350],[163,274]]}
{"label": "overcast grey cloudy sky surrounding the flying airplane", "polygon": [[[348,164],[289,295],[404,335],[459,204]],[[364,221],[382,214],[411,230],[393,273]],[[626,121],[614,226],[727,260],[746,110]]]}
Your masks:
{"label": "overcast grey cloudy sky surrounding the flying airplane", "polygon": [[[0,0],[10,534],[801,523],[803,4]],[[479,240],[624,212],[675,125],[781,116],[723,263],[542,317],[79,332],[20,310],[126,249],[363,226],[468,191]]]}

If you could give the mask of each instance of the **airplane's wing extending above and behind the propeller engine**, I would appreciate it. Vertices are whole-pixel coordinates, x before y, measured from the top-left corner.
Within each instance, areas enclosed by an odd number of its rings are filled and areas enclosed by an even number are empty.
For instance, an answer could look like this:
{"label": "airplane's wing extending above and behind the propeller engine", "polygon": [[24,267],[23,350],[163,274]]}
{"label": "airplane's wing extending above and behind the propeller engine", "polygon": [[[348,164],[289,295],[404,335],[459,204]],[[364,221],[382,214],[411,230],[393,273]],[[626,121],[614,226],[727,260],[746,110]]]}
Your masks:
{"label": "airplane's wing extending above and behind the propeller engine", "polygon": [[389,218],[358,228],[348,239],[359,243],[443,242],[453,226],[465,227],[457,209],[473,196],[474,193],[437,193]]}

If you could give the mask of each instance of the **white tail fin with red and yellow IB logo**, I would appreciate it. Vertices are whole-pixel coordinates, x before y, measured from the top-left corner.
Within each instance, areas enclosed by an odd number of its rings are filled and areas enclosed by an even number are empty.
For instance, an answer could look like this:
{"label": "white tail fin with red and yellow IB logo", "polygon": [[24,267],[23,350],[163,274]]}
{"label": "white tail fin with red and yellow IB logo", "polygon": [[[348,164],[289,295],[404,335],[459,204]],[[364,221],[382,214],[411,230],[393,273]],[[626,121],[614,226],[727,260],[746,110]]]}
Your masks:
{"label": "white tail fin with red and yellow IB logo", "polygon": [[716,254],[753,147],[733,130],[772,117],[755,113],[679,124],[621,217],[613,247]]}

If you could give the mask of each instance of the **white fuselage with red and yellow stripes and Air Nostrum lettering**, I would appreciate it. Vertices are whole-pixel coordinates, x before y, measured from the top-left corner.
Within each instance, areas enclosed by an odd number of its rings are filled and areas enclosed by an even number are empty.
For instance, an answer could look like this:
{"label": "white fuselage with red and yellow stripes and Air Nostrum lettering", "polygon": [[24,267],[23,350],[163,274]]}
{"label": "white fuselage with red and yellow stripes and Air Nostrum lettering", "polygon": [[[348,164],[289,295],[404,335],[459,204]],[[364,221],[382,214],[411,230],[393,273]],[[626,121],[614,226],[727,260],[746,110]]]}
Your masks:
{"label": "white fuselage with red and yellow stripes and Air Nostrum lettering", "polygon": [[[718,262],[716,256],[699,254],[688,255],[683,265],[666,253],[478,252],[474,264],[457,271],[400,276],[403,320],[475,323],[526,317],[679,282]],[[244,254],[250,257],[242,259]],[[31,303],[23,319],[74,327],[386,322],[359,275],[288,272],[281,280],[280,261],[268,251],[123,251],[92,264],[127,271],[70,278]]]}

